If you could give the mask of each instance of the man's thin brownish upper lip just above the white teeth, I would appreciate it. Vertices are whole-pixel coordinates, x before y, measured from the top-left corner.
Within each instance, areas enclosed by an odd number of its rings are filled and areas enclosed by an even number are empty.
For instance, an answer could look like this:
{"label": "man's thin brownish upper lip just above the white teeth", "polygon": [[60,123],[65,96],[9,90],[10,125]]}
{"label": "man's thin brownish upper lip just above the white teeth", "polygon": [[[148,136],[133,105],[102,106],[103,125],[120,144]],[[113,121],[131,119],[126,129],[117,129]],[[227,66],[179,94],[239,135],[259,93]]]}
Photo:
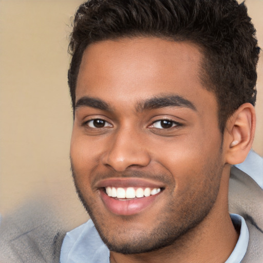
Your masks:
{"label": "man's thin brownish upper lip just above the white teeth", "polygon": [[95,184],[96,188],[107,186],[164,188],[164,184],[160,181],[143,178],[108,178],[100,180]]}

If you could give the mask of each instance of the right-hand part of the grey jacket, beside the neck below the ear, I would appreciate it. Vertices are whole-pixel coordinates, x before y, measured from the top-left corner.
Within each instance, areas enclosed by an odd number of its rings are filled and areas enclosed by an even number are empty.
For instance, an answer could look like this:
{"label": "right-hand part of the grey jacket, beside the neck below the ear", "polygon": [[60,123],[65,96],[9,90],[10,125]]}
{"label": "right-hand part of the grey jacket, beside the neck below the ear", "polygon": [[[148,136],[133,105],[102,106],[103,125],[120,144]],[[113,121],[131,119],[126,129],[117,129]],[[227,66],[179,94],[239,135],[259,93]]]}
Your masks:
{"label": "right-hand part of the grey jacket, beside the neck below the ear", "polygon": [[232,167],[229,182],[229,212],[241,215],[249,229],[248,250],[242,263],[262,263],[263,190],[236,167]]}

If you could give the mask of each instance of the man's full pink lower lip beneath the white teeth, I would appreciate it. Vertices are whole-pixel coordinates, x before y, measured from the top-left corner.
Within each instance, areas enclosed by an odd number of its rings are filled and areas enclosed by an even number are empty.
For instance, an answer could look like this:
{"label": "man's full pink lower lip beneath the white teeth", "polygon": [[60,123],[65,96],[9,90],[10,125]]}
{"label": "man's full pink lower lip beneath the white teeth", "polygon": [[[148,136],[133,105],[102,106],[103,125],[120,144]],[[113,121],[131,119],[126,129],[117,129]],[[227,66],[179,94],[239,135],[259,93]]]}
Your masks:
{"label": "man's full pink lower lip beneath the white teeth", "polygon": [[109,197],[103,190],[101,190],[101,197],[106,208],[113,214],[125,216],[140,213],[150,206],[159,194],[129,200],[118,200]]}

